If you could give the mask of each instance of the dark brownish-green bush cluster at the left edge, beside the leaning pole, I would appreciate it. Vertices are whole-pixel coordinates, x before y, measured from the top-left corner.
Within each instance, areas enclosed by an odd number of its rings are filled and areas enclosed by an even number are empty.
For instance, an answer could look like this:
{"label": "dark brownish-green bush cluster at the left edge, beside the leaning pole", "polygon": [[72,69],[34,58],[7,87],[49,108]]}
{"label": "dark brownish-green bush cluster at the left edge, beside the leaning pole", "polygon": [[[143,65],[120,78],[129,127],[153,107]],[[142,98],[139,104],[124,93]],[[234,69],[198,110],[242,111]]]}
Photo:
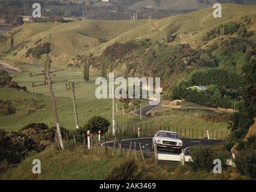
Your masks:
{"label": "dark brownish-green bush cluster at the left edge, beside the leaning pole", "polygon": [[[63,131],[66,130],[62,128]],[[5,164],[20,163],[28,152],[43,151],[54,143],[54,137],[55,127],[49,128],[43,123],[28,124],[10,133],[0,129],[0,169],[4,169]]]}

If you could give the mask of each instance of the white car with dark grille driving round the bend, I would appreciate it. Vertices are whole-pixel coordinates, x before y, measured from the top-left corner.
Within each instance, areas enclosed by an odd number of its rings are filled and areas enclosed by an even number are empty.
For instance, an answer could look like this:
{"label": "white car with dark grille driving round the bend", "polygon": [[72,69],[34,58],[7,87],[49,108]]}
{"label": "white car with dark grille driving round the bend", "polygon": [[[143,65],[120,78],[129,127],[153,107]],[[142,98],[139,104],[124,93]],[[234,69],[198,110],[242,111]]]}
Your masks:
{"label": "white car with dark grille driving round the bend", "polygon": [[178,133],[172,131],[158,131],[152,139],[153,147],[157,145],[157,149],[169,149],[181,153],[183,142]]}

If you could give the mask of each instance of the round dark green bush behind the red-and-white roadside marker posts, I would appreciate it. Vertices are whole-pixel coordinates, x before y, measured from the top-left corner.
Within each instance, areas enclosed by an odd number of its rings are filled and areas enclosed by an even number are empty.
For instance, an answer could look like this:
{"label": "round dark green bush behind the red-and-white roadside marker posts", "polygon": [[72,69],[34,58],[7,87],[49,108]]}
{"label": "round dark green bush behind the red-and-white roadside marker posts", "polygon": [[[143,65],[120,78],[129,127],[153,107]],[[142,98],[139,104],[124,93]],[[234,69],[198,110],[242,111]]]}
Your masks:
{"label": "round dark green bush behind the red-and-white roadside marker posts", "polygon": [[110,122],[102,118],[101,116],[93,116],[89,121],[83,126],[85,130],[89,130],[90,133],[96,134],[100,130],[102,134],[108,131]]}

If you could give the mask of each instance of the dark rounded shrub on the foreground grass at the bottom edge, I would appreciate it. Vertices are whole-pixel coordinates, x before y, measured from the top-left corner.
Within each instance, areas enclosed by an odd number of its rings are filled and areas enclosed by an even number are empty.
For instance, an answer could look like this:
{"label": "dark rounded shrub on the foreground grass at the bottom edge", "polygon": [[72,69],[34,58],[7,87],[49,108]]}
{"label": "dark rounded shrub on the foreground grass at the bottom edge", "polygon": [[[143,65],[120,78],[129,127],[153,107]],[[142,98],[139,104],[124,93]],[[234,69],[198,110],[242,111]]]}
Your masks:
{"label": "dark rounded shrub on the foreground grass at the bottom edge", "polygon": [[123,161],[120,166],[114,167],[106,180],[138,180],[141,177],[141,172],[135,160]]}

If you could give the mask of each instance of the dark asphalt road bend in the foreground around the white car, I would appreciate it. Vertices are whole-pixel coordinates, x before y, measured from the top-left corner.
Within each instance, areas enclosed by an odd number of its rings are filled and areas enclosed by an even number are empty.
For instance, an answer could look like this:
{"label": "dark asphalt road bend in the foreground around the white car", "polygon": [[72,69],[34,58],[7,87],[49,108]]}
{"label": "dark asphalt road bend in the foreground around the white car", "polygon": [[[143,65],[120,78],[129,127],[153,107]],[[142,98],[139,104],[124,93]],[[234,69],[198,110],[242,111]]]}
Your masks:
{"label": "dark asphalt road bend in the foreground around the white car", "polygon": [[[183,141],[183,149],[186,155],[189,155],[189,149],[194,146],[211,146],[211,145],[221,145],[225,143],[224,140],[210,140],[210,139],[181,139]],[[131,149],[134,150],[134,142],[136,142],[136,150],[140,150],[139,143],[142,145],[142,150],[148,154],[154,154],[154,150],[152,149],[152,138],[141,138],[141,139],[125,139],[122,140],[122,148],[129,149],[130,143],[133,142],[131,145]],[[113,147],[114,141],[107,142],[108,147]],[[116,140],[116,148],[118,148],[118,140]],[[163,154],[177,154],[175,152],[169,151],[158,151],[158,153]],[[177,154],[178,155],[178,154]]]}

